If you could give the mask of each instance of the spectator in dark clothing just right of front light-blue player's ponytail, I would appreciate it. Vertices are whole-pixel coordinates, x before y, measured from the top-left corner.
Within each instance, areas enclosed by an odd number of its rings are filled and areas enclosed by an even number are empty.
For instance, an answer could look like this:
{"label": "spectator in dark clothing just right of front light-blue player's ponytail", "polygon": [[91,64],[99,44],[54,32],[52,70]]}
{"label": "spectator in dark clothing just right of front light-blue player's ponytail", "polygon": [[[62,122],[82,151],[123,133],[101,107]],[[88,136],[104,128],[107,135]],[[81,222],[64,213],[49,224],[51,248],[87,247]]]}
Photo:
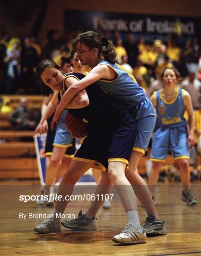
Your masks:
{"label": "spectator in dark clothing just right of front light-blue player's ponytail", "polygon": [[128,34],[128,39],[123,43],[123,46],[128,55],[128,63],[132,67],[135,67],[137,64],[139,50],[134,35],[132,33]]}

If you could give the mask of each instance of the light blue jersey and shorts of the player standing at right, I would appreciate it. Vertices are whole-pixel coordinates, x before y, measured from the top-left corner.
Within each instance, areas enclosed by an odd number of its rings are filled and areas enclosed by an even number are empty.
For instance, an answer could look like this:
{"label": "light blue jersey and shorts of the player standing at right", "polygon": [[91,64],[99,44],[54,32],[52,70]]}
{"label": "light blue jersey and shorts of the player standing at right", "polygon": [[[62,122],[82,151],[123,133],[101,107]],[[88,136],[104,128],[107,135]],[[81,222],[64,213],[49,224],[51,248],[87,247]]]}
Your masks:
{"label": "light blue jersey and shorts of the player standing at right", "polygon": [[163,162],[171,150],[176,159],[189,159],[187,124],[184,119],[184,90],[177,88],[175,99],[166,101],[161,90],[155,92],[157,122],[153,133],[151,159]]}

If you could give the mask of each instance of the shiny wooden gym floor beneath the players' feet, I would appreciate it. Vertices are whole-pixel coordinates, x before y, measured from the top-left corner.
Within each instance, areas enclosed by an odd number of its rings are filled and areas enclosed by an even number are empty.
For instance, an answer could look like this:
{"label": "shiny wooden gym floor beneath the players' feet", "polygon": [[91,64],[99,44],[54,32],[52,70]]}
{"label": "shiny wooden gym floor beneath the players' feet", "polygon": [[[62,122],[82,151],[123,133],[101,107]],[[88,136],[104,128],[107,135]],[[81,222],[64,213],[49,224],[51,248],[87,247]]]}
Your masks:
{"label": "shiny wooden gym floor beneath the players' feet", "polygon": [[[61,227],[61,233],[35,234],[34,227],[43,219],[19,219],[19,212],[52,213],[52,208],[40,208],[35,201],[19,201],[19,195],[39,194],[38,181],[3,181],[1,187],[0,255],[68,255],[68,256],[166,256],[201,255],[201,182],[193,183],[193,195],[198,204],[186,206],[181,201],[180,183],[162,183],[157,186],[157,211],[166,221],[165,236],[147,238],[146,244],[119,245],[112,241],[126,224],[122,204],[114,192],[110,210],[99,210],[96,231],[70,231]],[[94,187],[76,186],[74,194],[92,194]],[[89,201],[71,201],[65,213],[77,214],[87,210]],[[138,202],[140,221],[147,217]]]}

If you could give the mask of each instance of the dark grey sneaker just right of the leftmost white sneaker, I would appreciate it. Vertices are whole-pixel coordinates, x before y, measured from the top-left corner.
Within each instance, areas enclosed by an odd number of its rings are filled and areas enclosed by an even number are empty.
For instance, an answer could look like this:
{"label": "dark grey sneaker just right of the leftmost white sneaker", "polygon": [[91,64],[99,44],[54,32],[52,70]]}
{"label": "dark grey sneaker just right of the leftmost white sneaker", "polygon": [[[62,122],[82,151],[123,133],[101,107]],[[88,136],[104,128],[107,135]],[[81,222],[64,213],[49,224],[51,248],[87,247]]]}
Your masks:
{"label": "dark grey sneaker just right of the leftmost white sneaker", "polygon": [[88,218],[82,211],[79,211],[78,218],[61,221],[61,225],[72,230],[96,230],[96,217]]}

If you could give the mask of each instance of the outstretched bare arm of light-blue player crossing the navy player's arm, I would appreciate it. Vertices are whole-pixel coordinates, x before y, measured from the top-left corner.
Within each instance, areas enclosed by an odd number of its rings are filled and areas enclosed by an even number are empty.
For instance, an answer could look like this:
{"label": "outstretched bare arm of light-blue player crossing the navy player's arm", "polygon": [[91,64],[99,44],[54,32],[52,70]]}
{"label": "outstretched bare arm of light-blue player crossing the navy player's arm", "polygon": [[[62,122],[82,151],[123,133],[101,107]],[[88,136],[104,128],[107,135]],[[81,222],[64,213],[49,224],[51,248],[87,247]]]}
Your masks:
{"label": "outstretched bare arm of light-blue player crossing the navy player's arm", "polygon": [[73,82],[68,90],[64,93],[61,102],[56,110],[56,112],[61,114],[62,110],[72,101],[72,99],[79,93],[79,91],[84,90],[90,84],[96,82],[100,78],[108,78],[107,74],[109,74],[109,67],[106,65],[98,65],[94,67],[86,77],[81,79],[80,81]]}

